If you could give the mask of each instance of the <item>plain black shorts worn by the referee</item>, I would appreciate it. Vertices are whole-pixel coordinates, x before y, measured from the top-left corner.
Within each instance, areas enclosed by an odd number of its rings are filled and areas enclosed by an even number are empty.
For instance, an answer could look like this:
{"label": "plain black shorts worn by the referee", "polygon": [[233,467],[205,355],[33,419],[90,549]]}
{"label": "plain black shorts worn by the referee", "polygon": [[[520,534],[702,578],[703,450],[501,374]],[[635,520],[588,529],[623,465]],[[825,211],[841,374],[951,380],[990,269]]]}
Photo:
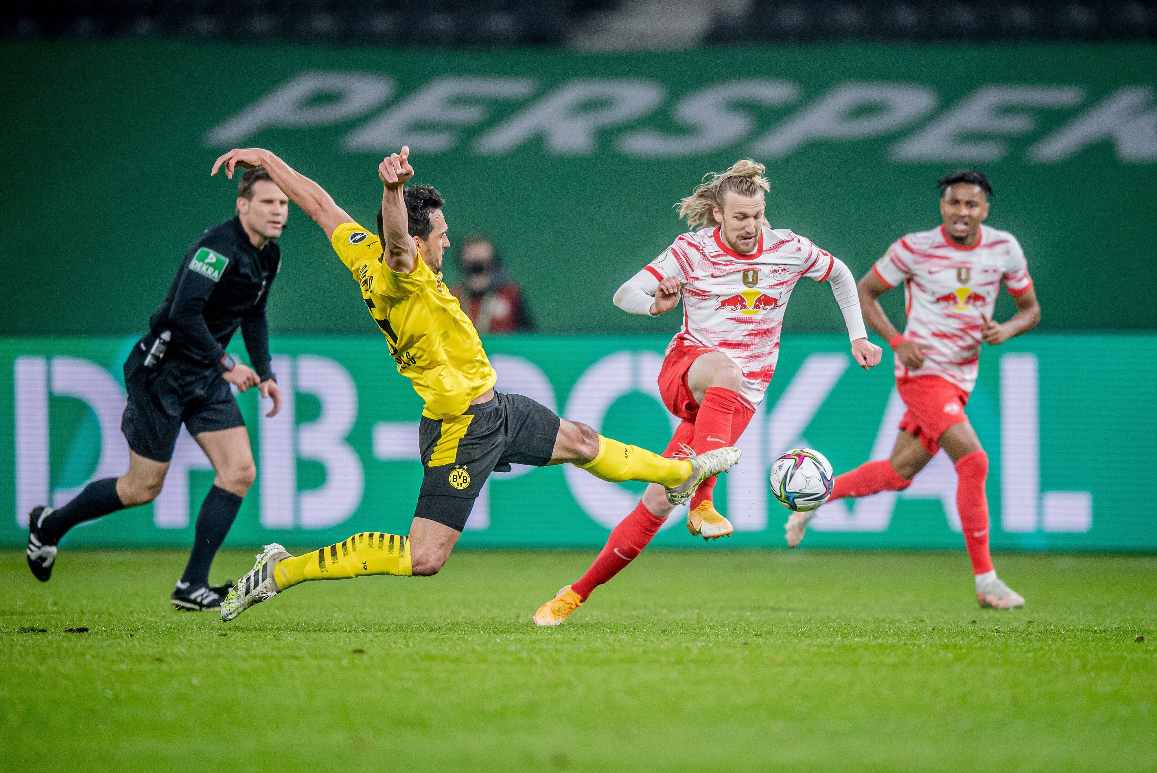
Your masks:
{"label": "plain black shorts worn by the referee", "polygon": [[156,368],[146,368],[143,362],[138,344],[125,361],[128,404],[120,420],[128,448],[141,456],[171,461],[182,424],[191,435],[245,426],[229,382],[215,368],[172,354]]}

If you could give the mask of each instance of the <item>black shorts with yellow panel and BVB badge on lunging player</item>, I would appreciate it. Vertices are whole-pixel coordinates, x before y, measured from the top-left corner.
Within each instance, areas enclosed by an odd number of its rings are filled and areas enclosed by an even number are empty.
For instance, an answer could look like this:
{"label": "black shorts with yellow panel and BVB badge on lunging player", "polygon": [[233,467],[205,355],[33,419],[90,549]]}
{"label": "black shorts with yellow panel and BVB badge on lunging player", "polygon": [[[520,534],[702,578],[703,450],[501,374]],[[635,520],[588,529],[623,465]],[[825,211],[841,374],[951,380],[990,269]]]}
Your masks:
{"label": "black shorts with yellow panel and BVB badge on lunging player", "polygon": [[422,417],[418,442],[425,476],[414,517],[462,531],[491,472],[509,472],[511,463],[540,468],[551,461],[560,422],[529,397],[502,392],[460,417]]}

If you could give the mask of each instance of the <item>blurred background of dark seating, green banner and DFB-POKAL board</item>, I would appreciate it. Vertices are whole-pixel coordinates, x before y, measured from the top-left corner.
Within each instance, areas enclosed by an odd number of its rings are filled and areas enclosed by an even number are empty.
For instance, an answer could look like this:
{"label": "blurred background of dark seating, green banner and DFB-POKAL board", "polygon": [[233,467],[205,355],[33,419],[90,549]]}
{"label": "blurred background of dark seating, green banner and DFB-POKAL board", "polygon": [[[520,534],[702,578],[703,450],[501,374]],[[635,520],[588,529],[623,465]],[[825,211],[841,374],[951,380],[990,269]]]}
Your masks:
{"label": "blurred background of dark seating, green banner and DFB-POKAL board", "polygon": [[[651,448],[677,315],[631,317],[611,295],[680,233],[671,205],[702,174],[762,161],[773,226],[858,277],[938,224],[937,177],[979,165],[988,223],[1020,240],[1044,310],[986,348],[970,404],[993,545],[1157,549],[1155,2],[75,1],[8,7],[0,35],[0,544],[23,545],[31,505],[124,469],[120,365],[189,243],[233,213],[216,155],[267,147],[368,223],[377,162],[408,143],[449,201],[450,281],[462,238],[489,235],[537,325],[487,338],[500,387]],[[259,419],[239,398],[259,478],[227,545],[404,529],[418,399],[300,211],[281,244],[268,308],[290,410]],[[997,316],[1012,309],[1004,295]],[[802,285],[722,486],[729,546],[782,545],[764,477],[781,450],[842,471],[890,448],[890,359],[850,368],[841,331],[826,288]],[[230,349],[243,358],[239,337]],[[186,545],[207,468],[184,436],[154,505],[67,544]],[[833,503],[809,545],[958,549],[951,465],[918,481]],[[463,544],[598,546],[632,496],[515,471]],[[681,529],[657,542],[692,545]]]}

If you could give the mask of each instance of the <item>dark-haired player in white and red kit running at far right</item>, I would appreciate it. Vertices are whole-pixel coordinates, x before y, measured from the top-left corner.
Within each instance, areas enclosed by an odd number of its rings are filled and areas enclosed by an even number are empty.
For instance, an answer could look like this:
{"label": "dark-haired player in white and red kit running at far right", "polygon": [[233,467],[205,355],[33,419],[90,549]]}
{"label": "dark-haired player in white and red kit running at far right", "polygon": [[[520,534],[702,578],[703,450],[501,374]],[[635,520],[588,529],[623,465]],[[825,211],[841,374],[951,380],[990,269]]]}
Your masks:
{"label": "dark-haired player in white and red kit running at far right", "polygon": [[[896,351],[896,387],[907,406],[889,459],[862,464],[835,479],[832,499],[902,491],[943,448],[959,476],[957,509],[982,608],[1015,609],[1024,598],[996,576],[988,554],[988,456],[964,412],[977,383],[981,343],[1003,344],[1040,322],[1024,252],[1008,231],[982,226],[993,189],[979,171],[937,181],[944,223],[908,234],[860,280],[864,319]],[[993,321],[1003,280],[1017,312]],[[899,333],[877,299],[904,284],[907,326]],[[788,520],[787,540],[799,544],[813,513]]]}

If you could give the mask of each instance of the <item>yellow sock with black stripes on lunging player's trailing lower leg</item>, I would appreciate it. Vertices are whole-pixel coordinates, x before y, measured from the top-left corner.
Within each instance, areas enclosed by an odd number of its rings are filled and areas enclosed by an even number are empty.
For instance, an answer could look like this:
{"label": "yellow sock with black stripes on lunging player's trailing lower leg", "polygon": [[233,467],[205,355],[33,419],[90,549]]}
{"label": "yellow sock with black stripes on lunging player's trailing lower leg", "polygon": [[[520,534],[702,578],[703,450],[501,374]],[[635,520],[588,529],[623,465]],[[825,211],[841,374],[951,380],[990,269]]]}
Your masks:
{"label": "yellow sock with black stripes on lunging player's trailing lower leg", "polygon": [[347,580],[366,574],[408,577],[410,539],[381,531],[363,531],[316,553],[281,559],[273,569],[273,579],[281,590],[307,580]]}

